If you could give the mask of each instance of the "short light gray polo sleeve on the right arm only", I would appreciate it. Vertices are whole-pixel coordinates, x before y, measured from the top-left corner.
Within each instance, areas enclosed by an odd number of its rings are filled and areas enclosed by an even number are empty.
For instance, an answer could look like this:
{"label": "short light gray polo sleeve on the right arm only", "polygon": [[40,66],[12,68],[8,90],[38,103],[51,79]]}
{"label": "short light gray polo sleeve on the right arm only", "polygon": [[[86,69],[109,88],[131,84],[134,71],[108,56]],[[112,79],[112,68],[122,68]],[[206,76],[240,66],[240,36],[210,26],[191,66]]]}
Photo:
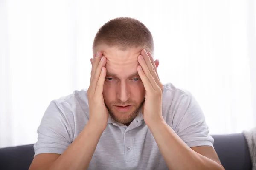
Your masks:
{"label": "short light gray polo sleeve on the right arm only", "polygon": [[189,147],[213,147],[214,140],[209,135],[209,127],[205,122],[204,113],[192,94],[184,93],[176,104],[174,130],[177,135]]}

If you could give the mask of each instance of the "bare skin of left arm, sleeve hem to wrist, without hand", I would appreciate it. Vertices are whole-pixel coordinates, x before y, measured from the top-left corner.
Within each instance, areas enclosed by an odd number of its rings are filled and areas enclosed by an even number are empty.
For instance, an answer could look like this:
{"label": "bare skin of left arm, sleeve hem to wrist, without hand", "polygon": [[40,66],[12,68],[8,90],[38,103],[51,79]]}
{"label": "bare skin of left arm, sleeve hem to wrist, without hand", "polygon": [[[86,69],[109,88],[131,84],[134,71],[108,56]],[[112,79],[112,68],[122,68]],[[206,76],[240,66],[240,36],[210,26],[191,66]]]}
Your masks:
{"label": "bare skin of left arm, sleeve hem to wrist, without hand", "polygon": [[[85,170],[89,166],[103,130],[88,122],[64,153],[41,153],[35,156],[29,170]],[[85,142],[86,141],[86,142]]]}

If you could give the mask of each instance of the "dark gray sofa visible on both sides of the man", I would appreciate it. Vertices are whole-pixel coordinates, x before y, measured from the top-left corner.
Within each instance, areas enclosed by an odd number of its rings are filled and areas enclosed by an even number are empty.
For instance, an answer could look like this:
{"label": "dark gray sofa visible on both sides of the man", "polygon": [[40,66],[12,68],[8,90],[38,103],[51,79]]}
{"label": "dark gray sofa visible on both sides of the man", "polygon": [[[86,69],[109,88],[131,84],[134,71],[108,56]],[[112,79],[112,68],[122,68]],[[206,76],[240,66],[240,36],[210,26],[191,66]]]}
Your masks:
{"label": "dark gray sofa visible on both sides of the man", "polygon": [[[214,147],[226,170],[251,170],[252,163],[243,134],[212,135]],[[0,170],[28,170],[33,144],[0,149]]]}

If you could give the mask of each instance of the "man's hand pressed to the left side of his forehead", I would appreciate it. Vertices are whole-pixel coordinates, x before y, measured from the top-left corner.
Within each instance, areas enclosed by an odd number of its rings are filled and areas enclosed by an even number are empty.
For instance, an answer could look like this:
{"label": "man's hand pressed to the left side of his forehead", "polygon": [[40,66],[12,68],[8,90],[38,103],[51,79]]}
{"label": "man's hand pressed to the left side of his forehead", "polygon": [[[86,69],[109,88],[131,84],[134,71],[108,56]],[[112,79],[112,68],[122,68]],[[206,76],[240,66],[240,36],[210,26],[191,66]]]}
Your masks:
{"label": "man's hand pressed to the left side of his forehead", "polygon": [[91,59],[92,70],[90,86],[87,90],[89,103],[89,122],[96,124],[105,130],[108,123],[108,110],[103,99],[103,85],[106,77],[106,58],[102,52],[97,52],[96,56]]}

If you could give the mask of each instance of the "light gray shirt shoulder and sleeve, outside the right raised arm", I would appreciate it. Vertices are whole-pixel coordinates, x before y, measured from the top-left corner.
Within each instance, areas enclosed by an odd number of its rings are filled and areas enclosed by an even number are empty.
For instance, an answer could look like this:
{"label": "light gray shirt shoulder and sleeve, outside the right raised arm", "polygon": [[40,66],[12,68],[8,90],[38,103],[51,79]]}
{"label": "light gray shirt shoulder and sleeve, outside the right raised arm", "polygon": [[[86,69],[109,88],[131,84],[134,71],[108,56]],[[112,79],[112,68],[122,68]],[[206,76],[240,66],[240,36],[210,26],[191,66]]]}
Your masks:
{"label": "light gray shirt shoulder and sleeve, outside the right raised arm", "polygon": [[164,85],[163,108],[166,123],[189,146],[212,146],[209,127],[198,102],[189,91],[176,88],[171,83]]}

